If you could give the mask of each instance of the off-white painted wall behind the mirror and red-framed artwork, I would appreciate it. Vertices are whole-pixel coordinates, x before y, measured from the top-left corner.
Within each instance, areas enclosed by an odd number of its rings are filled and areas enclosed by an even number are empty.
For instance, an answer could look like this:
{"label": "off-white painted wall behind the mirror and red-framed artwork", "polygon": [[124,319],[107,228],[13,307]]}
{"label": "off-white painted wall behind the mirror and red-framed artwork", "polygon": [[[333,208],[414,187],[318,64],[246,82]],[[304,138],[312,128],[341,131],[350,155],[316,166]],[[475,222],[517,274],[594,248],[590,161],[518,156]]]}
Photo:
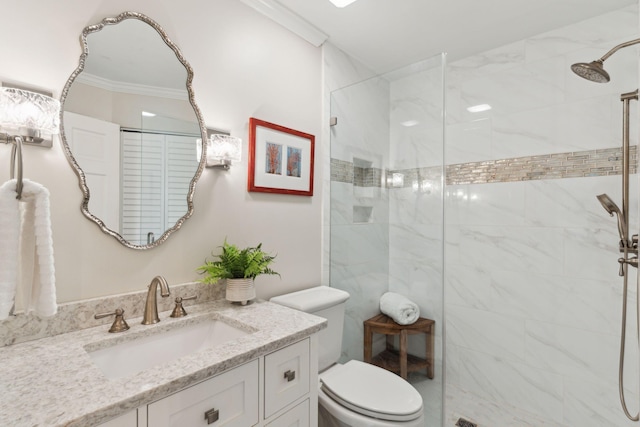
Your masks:
{"label": "off-white painted wall behind the mirror and red-framed artwork", "polygon": [[[317,136],[322,158],[321,51],[234,0],[10,1],[0,27],[0,80],[49,89],[59,96],[80,54],[89,24],[133,10],[162,25],[194,69],[196,100],[206,125],[244,140],[240,165],[205,170],[195,213],[158,248],[135,251],[103,234],[80,212],[82,194],[59,140],[51,150],[26,147],[25,177],[51,192],[58,300],[144,289],[158,274],[169,283],[195,272],[225,237],[239,245],[262,242],[277,253],[277,276],[257,280],[267,298],[320,282],[322,192],[312,198],[248,193],[249,117]],[[10,147],[0,146],[0,181],[9,178]],[[321,183],[316,168],[316,183]]]}

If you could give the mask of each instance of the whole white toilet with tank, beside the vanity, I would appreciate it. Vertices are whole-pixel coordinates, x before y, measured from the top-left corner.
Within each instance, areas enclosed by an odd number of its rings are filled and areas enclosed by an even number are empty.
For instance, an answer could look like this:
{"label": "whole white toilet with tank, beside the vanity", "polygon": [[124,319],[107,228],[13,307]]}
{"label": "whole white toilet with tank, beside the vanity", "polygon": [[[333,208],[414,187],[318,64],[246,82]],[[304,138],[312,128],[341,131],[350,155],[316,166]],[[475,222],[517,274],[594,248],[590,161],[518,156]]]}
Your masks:
{"label": "whole white toilet with tank, beside the vanity", "polygon": [[328,286],[271,298],[271,302],[327,319],[320,331],[320,427],[424,427],[422,396],[398,375],[368,363],[337,363],[349,294]]}

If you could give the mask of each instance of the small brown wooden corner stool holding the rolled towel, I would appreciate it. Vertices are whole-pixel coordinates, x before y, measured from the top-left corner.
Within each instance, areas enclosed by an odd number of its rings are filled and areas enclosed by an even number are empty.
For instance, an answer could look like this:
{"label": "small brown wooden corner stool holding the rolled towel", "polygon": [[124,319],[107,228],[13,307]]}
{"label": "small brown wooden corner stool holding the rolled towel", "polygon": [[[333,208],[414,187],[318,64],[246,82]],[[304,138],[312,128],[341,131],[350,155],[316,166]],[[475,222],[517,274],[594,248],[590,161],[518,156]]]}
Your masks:
{"label": "small brown wooden corner stool holding the rolled towel", "polygon": [[[435,338],[434,325],[436,322],[431,319],[418,318],[411,325],[399,325],[385,314],[378,314],[369,320],[364,321],[364,361],[380,366],[388,371],[399,374],[405,380],[409,372],[420,369],[427,370],[427,377],[433,379],[433,345]],[[372,343],[373,334],[384,334],[387,336],[386,349],[373,357]],[[415,334],[427,335],[426,358],[407,354],[407,336]],[[395,336],[400,336],[399,351],[394,348]]]}

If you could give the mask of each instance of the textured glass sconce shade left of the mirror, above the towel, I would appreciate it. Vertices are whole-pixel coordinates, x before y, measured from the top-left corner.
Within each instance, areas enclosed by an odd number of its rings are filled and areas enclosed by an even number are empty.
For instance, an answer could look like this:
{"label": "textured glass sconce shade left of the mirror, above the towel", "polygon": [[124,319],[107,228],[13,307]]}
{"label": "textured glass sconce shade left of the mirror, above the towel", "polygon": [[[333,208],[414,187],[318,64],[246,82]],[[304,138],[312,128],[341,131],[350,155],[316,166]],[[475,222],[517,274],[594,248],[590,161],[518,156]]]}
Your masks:
{"label": "textured glass sconce shade left of the mirror, above the towel", "polygon": [[33,137],[39,132],[57,134],[60,101],[40,93],[0,88],[0,129],[12,135]]}

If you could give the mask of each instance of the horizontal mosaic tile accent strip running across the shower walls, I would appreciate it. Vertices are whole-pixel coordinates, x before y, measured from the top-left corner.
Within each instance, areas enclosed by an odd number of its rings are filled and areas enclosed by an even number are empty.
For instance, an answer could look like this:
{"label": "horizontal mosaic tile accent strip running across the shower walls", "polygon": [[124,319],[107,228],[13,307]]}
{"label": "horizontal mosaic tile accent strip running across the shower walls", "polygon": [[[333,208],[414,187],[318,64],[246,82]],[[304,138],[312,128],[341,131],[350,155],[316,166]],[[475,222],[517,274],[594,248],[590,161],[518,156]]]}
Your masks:
{"label": "horizontal mosaic tile accent strip running across the shower walls", "polygon": [[[637,173],[637,146],[629,147],[629,172]],[[359,187],[404,188],[438,180],[441,167],[388,170],[354,167],[353,163],[331,159],[331,181],[350,183]],[[590,176],[620,175],[622,147],[590,151],[544,154],[510,159],[447,165],[446,184],[487,184],[493,182],[531,181],[541,179],[586,178]],[[395,174],[395,176],[394,176]]]}

